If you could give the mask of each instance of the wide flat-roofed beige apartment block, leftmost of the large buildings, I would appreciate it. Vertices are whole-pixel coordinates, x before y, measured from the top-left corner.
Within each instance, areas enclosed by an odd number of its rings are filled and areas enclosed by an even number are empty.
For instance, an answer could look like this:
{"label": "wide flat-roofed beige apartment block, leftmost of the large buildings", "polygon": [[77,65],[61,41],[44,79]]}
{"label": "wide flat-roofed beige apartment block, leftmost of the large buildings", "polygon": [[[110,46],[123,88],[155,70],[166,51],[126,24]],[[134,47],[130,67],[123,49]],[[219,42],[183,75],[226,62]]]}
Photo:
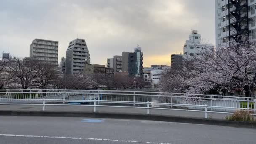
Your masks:
{"label": "wide flat-roofed beige apartment block, leftmost of the large buildings", "polygon": [[29,57],[58,66],[58,41],[35,39],[30,45]]}

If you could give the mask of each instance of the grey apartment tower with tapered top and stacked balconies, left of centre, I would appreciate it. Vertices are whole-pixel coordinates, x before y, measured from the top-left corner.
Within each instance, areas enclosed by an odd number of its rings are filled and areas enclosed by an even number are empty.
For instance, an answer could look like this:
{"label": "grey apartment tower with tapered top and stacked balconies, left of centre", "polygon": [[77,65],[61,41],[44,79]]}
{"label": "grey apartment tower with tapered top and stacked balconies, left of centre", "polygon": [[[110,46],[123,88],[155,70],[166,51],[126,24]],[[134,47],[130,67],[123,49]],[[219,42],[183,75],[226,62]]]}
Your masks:
{"label": "grey apartment tower with tapered top and stacked balconies, left of centre", "polygon": [[66,51],[66,74],[83,72],[85,63],[90,64],[90,54],[85,40],[72,40]]}

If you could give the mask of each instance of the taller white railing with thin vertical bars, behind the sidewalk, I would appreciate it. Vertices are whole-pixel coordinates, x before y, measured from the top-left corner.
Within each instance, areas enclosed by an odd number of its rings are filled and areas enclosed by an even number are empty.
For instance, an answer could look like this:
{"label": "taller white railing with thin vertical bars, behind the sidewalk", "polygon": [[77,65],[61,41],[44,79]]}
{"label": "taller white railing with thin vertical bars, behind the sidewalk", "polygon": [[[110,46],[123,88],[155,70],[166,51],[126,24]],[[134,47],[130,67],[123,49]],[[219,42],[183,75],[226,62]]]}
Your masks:
{"label": "taller white railing with thin vertical bars, behind the sidewalk", "polygon": [[[6,92],[5,92],[6,91]],[[102,91],[102,90],[0,90],[0,102],[8,103],[21,101],[24,103],[29,99],[29,103],[35,99],[50,99],[56,101],[87,101],[97,100],[98,104],[106,101],[117,104],[118,102],[126,101],[133,102],[133,106],[138,103],[150,102],[152,107],[161,108],[163,104],[167,106],[187,107],[189,110],[203,110],[205,105],[211,108],[211,111],[216,112],[234,112],[236,109],[253,108],[256,106],[255,98],[236,97],[236,96],[218,96],[218,95],[203,95],[191,93],[163,93],[163,92],[148,92],[148,91]],[[193,105],[194,107],[191,107]],[[200,106],[200,107],[198,107]]]}

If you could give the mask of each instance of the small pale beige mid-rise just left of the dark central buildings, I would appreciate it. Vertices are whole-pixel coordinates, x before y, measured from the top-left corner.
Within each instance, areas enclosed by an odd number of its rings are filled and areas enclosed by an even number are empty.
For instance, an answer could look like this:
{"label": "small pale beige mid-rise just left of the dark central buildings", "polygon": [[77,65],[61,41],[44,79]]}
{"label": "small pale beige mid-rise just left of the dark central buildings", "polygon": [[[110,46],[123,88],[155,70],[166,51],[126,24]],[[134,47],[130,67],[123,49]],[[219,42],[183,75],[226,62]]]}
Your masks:
{"label": "small pale beige mid-rise just left of the dark central buildings", "polygon": [[122,72],[122,56],[107,59],[107,67],[114,68],[114,72]]}

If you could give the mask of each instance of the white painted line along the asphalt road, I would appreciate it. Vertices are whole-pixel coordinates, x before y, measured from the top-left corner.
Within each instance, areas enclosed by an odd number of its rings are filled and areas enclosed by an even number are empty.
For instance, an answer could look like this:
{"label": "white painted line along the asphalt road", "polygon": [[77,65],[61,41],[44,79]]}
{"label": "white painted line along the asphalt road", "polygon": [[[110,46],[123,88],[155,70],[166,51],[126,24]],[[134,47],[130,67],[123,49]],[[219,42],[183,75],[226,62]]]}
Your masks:
{"label": "white painted line along the asphalt road", "polygon": [[[34,135],[15,135],[15,134],[0,134],[0,136],[15,136],[15,137],[34,137],[34,138],[54,138],[54,139],[81,139],[81,140],[94,140],[94,141],[119,141],[129,143],[141,143],[133,140],[117,140],[117,139],[96,139],[96,138],[76,138],[76,137],[64,137],[64,136],[34,136]],[[143,142],[142,142],[143,143]],[[171,144],[162,142],[144,142],[145,144]]]}

